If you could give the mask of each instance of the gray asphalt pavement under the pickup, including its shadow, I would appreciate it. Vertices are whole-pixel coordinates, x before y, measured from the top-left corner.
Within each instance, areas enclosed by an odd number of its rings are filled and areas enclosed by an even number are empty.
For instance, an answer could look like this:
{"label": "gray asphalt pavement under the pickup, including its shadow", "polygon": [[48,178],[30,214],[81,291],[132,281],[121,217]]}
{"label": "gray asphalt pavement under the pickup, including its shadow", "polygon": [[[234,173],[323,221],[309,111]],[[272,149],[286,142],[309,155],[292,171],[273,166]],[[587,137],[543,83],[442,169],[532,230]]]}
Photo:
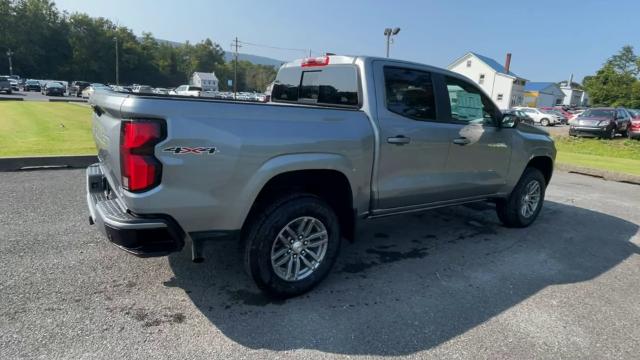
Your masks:
{"label": "gray asphalt pavement under the pickup, including its shadow", "polygon": [[489,206],[371,223],[317,290],[270,302],[236,244],[138,259],[87,224],[83,172],[0,173],[3,359],[627,358],[640,187],[557,173],[538,222]]}

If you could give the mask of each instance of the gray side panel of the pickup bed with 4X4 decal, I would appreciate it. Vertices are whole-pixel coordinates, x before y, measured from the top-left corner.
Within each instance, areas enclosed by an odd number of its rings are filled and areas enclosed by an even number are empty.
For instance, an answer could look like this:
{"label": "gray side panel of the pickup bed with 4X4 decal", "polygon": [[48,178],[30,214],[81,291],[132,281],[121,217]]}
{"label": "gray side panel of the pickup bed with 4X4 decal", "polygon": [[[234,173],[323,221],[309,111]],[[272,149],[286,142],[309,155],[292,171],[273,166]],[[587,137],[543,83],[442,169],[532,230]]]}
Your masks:
{"label": "gray side panel of the pickup bed with 4X4 decal", "polygon": [[[362,111],[134,96],[122,103],[121,116],[167,123],[167,139],[155,150],[161,185],[123,191],[133,212],[168,214],[187,232],[237,230],[269,179],[304,169],[342,172],[358,211],[368,209],[374,139]],[[164,151],[177,146],[217,151]]]}

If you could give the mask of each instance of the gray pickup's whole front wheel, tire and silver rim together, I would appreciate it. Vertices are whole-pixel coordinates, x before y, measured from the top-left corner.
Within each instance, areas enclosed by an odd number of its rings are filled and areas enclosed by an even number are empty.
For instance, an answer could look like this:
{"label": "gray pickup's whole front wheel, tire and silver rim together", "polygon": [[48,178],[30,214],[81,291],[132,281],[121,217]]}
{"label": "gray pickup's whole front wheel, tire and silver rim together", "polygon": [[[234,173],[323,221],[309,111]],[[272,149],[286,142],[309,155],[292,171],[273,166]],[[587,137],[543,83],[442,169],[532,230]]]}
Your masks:
{"label": "gray pickup's whole front wheel, tire and silver rim together", "polygon": [[546,190],[542,172],[527,168],[506,199],[496,203],[498,218],[506,227],[527,227],[538,217]]}

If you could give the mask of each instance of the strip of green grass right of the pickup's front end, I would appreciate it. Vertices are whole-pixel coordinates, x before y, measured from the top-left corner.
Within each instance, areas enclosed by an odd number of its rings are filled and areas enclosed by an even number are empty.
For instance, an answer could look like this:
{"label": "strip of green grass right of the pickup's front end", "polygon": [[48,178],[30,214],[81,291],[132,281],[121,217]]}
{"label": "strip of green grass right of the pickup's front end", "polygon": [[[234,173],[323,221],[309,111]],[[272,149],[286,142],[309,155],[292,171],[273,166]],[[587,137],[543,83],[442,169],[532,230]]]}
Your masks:
{"label": "strip of green grass right of the pickup's front end", "polygon": [[557,136],[558,163],[640,175],[640,141]]}

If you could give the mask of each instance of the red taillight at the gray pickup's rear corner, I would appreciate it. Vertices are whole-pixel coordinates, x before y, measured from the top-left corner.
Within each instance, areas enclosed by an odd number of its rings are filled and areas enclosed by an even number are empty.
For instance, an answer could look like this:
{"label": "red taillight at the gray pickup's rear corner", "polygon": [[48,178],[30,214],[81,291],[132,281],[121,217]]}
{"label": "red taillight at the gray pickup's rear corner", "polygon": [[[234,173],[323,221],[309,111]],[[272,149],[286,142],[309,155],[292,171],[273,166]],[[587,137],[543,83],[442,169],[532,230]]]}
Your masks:
{"label": "red taillight at the gray pickup's rear corner", "polygon": [[165,138],[162,120],[126,120],[120,128],[120,174],[122,187],[142,192],[160,184],[162,164],[154,147]]}

